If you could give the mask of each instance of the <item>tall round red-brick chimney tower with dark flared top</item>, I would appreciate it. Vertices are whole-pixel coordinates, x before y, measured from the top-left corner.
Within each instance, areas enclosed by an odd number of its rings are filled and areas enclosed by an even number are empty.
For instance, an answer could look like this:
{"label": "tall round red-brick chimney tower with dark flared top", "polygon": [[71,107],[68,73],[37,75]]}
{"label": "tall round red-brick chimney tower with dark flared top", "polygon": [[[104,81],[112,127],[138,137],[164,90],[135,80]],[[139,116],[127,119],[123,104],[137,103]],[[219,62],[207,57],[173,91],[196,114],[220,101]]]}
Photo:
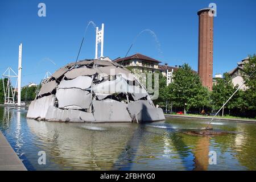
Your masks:
{"label": "tall round red-brick chimney tower with dark flared top", "polygon": [[199,15],[198,73],[203,86],[212,90],[213,77],[213,9],[205,8]]}

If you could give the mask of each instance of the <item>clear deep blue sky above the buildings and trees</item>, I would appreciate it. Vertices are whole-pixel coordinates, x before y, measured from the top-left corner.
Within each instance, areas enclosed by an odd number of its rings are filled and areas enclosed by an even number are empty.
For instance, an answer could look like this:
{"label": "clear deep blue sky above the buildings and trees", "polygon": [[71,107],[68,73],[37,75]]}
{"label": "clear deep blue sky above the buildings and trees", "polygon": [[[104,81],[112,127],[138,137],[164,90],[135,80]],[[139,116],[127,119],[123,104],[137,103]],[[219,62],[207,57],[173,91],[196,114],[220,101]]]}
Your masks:
{"label": "clear deep blue sky above the buildings and trees", "polygon": [[[38,4],[46,4],[46,17],[38,16]],[[16,72],[18,47],[23,43],[23,80],[40,82],[46,71],[53,73],[75,61],[90,20],[105,23],[104,56],[142,53],[169,65],[188,63],[197,71],[197,10],[217,5],[214,17],[213,73],[224,73],[249,54],[256,53],[256,1],[1,1],[0,73],[7,67]],[[93,58],[95,34],[89,26],[79,59]],[[53,64],[52,61],[55,63]]]}

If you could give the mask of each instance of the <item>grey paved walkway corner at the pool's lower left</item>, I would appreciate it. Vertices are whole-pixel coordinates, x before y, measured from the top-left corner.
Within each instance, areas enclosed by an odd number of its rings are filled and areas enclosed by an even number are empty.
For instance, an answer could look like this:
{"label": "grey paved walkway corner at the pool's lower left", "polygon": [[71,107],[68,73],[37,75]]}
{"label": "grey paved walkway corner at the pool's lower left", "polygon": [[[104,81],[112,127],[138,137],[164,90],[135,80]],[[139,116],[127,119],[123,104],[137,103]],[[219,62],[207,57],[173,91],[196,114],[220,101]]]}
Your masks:
{"label": "grey paved walkway corner at the pool's lower left", "polygon": [[0,131],[0,171],[26,171],[26,167],[16,155],[5,136]]}

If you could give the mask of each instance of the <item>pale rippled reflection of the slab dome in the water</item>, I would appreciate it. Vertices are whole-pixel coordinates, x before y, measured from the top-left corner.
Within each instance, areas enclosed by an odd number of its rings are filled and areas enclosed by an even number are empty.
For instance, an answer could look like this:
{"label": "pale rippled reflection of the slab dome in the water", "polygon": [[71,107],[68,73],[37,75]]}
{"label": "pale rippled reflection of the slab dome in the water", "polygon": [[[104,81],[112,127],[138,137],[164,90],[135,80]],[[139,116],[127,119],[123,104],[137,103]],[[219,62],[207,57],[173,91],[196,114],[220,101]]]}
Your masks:
{"label": "pale rippled reflection of the slab dome in the water", "polygon": [[[112,169],[115,160],[134,133],[128,123],[111,124],[38,122],[27,119],[51,160],[64,169]],[[105,130],[90,130],[95,127]]]}

